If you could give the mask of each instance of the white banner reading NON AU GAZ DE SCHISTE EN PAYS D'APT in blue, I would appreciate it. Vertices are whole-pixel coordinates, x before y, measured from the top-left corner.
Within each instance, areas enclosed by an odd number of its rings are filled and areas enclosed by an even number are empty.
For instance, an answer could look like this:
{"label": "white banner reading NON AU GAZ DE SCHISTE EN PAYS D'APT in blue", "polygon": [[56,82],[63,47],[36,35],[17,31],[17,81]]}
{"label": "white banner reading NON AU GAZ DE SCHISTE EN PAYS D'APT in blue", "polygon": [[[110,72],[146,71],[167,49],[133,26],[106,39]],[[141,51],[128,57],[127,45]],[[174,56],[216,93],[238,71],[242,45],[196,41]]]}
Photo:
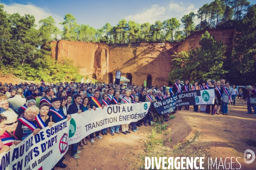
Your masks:
{"label": "white banner reading NON AU GAZ DE SCHISTE EN PAYS D'APT in blue", "polygon": [[0,155],[0,170],[50,170],[68,150],[70,121],[63,120],[31,134]]}

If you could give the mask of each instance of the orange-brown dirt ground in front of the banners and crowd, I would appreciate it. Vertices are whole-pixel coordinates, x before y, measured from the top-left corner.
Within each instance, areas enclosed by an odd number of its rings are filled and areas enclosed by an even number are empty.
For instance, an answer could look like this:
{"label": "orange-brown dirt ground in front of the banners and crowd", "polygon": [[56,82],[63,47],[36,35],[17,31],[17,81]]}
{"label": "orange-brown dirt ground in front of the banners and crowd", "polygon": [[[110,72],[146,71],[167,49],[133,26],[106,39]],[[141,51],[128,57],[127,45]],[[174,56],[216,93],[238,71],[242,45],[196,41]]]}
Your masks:
{"label": "orange-brown dirt ground in front of the banners and crowd", "polygon": [[[158,136],[163,139],[163,145],[149,150],[148,141],[151,136],[151,127],[138,127],[136,133],[128,135],[120,134],[103,136],[103,139],[94,139],[95,143],[84,147],[79,146],[79,159],[70,156],[70,149],[65,155],[64,164],[66,170],[143,170],[145,168],[144,157],[166,156],[166,157],[206,157],[205,169],[208,169],[208,158],[215,159],[219,164],[226,157],[226,167],[218,169],[230,169],[230,157],[233,159],[232,168],[241,170],[255,170],[256,160],[251,164],[244,163],[244,150],[250,149],[256,153],[256,147],[247,144],[246,139],[255,135],[256,116],[245,114],[247,112],[246,102],[236,99],[236,105],[229,105],[229,115],[209,115],[205,113],[190,111],[177,111],[175,118],[169,120],[168,127]],[[199,107],[200,109],[200,107]],[[222,113],[222,112],[220,112]],[[171,134],[169,135],[169,132]],[[149,134],[148,134],[149,133]],[[169,142],[169,139],[172,142]],[[213,160],[215,161],[215,160]],[[55,168],[61,170],[61,168]],[[209,167],[210,169],[210,167]],[[213,168],[212,169],[216,169]]]}

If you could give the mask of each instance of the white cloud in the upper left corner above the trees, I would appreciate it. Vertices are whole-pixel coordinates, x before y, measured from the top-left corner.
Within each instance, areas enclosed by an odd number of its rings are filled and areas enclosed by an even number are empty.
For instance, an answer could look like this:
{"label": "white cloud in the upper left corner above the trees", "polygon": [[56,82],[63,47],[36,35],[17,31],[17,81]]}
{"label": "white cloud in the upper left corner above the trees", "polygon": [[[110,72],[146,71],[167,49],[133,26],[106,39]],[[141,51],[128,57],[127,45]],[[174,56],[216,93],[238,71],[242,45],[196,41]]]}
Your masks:
{"label": "white cloud in the upper left corner above the trees", "polygon": [[[0,3],[0,4],[3,4],[3,3]],[[40,8],[40,7],[32,5],[32,4],[23,5],[23,4],[19,4],[19,3],[12,3],[10,5],[3,4],[3,5],[4,5],[3,10],[6,11],[8,14],[19,13],[21,16],[23,16],[24,14],[34,15],[35,24],[37,25],[36,28],[39,28],[38,27],[39,20],[44,19],[49,16],[52,16],[55,19],[56,26],[60,30],[63,29],[63,26],[61,26],[59,23],[64,20],[63,19],[64,17],[60,17],[57,14],[53,14],[52,12],[50,12],[44,8]]]}

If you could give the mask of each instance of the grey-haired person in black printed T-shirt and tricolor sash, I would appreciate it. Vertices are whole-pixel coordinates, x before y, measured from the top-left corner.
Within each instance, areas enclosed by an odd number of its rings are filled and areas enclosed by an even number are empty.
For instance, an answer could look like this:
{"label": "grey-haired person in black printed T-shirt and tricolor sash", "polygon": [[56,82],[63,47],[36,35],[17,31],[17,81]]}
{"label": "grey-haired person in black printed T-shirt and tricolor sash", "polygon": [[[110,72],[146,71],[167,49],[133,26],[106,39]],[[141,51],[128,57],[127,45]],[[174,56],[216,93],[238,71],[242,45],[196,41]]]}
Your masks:
{"label": "grey-haired person in black printed T-shirt and tricolor sash", "polygon": [[23,141],[31,133],[33,133],[33,135],[39,133],[42,128],[38,125],[38,122],[34,120],[38,115],[38,112],[39,109],[36,106],[32,106],[26,109],[23,118],[19,118],[17,120],[18,125],[15,131],[15,136],[17,136],[17,139]]}

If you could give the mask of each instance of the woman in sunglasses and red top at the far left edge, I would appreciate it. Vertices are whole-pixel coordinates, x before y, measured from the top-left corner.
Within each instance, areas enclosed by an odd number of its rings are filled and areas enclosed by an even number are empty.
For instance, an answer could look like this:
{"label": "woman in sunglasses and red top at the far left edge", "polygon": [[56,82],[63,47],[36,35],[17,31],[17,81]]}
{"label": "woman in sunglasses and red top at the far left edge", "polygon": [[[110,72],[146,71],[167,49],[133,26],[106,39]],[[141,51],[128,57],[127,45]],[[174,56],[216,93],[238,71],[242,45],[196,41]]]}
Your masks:
{"label": "woman in sunglasses and red top at the far left edge", "polygon": [[[1,141],[4,145],[12,146],[13,144],[17,145],[21,141],[17,139],[16,129],[17,129],[17,117],[18,115],[14,111],[5,111],[1,113],[1,116],[5,117],[6,120],[1,123],[1,127],[4,132],[0,132],[2,135],[0,136]],[[2,125],[3,124],[3,125]],[[2,130],[1,128],[1,130]]]}

